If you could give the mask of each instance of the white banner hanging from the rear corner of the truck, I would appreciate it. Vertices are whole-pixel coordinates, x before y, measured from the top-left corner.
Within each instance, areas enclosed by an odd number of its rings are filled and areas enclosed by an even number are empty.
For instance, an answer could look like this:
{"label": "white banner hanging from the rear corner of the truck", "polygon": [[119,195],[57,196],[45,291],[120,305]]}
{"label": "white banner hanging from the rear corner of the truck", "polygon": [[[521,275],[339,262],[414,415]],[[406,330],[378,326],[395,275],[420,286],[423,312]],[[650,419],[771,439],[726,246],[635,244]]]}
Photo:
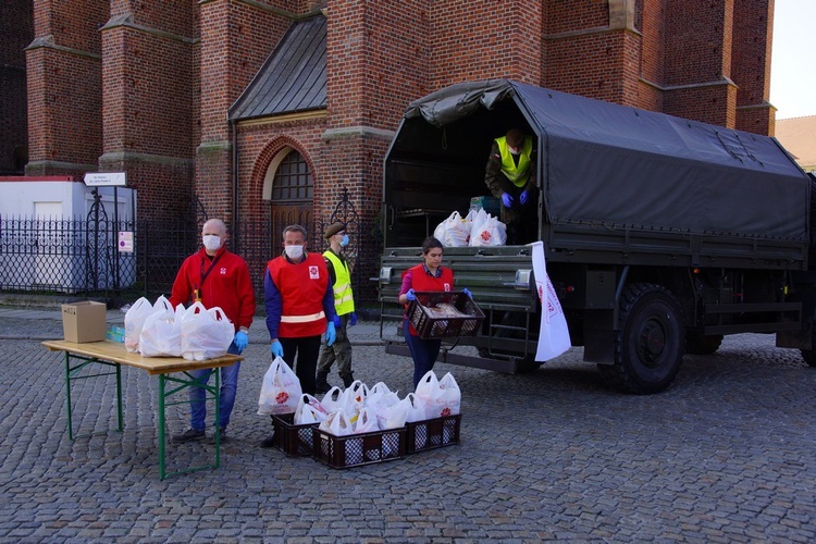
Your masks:
{"label": "white banner hanging from the rear corner of the truck", "polygon": [[[567,318],[564,316],[561,302],[553,288],[547,275],[547,263],[544,259],[544,243],[533,242],[533,273],[535,274],[535,290],[541,300],[541,330],[539,332],[539,348],[535,351],[536,361],[547,361],[558,357],[569,349],[569,330]],[[545,297],[546,294],[546,298]]]}

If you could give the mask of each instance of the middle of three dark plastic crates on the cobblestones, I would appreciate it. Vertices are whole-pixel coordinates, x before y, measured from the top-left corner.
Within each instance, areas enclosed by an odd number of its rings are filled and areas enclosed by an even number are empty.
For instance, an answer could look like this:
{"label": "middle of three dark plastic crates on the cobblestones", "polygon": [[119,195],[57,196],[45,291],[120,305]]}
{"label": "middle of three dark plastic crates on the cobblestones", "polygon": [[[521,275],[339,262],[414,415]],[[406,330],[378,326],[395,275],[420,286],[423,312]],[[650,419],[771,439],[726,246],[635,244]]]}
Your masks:
{"label": "middle of three dark plastic crates on the cobblestones", "polygon": [[406,446],[405,426],[371,433],[335,436],[318,428],[312,429],[314,459],[335,469],[403,459]]}

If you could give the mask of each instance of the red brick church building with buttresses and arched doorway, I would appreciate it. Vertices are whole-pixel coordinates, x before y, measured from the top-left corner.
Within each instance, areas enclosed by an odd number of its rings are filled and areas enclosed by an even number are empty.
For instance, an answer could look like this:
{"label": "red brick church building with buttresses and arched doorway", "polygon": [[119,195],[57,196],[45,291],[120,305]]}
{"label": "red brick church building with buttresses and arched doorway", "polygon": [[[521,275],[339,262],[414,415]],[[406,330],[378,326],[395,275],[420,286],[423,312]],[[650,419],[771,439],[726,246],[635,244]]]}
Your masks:
{"label": "red brick church building with buttresses and arched doorway", "polygon": [[360,251],[373,255],[366,225],[381,213],[383,158],[406,106],[463,81],[775,128],[774,0],[7,4],[32,16],[30,40],[7,62],[24,54],[25,174],[126,172],[140,221],[174,220],[195,197],[235,231],[313,224],[345,195]]}

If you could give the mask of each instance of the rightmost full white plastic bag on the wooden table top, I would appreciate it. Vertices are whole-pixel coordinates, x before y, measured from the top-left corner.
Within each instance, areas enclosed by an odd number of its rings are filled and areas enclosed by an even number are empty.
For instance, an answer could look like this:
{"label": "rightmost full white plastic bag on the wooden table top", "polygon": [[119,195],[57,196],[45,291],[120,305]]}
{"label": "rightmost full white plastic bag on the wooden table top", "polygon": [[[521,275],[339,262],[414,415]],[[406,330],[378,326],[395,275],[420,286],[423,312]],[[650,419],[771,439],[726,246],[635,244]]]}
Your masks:
{"label": "rightmost full white plastic bag on the wooden table top", "polygon": [[218,306],[205,308],[195,302],[182,316],[182,357],[203,361],[226,354],[235,326]]}

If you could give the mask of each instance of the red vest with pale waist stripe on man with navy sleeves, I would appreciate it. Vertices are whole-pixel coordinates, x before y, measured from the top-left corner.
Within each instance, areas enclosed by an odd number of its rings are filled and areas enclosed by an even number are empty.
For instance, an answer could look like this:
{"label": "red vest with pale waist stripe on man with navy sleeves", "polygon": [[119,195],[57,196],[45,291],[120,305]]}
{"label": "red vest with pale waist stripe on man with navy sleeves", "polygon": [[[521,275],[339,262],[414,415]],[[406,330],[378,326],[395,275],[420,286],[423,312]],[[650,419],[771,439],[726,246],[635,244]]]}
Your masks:
{"label": "red vest with pale waist stripe on man with navy sleeves", "polygon": [[323,334],[326,325],[323,297],[329,287],[329,270],[323,257],[309,254],[297,264],[277,257],[269,261],[267,268],[283,305],[277,335],[299,338]]}

